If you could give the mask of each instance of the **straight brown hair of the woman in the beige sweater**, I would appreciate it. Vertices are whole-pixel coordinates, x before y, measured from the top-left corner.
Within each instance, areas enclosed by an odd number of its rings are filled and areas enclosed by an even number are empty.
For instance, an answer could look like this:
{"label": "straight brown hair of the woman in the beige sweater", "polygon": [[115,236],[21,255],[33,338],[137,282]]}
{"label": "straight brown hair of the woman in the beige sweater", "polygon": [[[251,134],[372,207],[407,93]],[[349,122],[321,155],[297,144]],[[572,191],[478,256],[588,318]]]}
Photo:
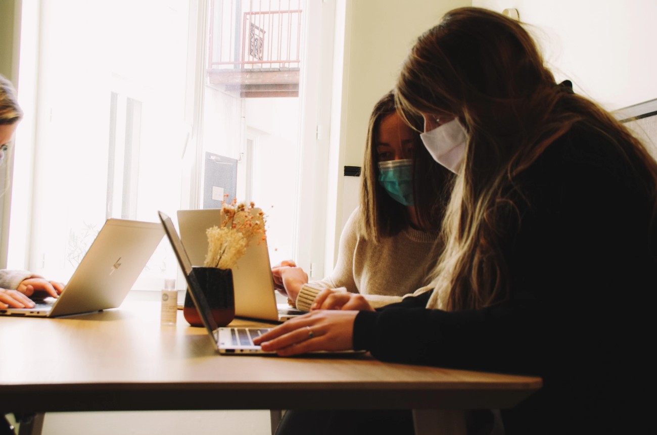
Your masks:
{"label": "straight brown hair of the woman in the beige sweater", "polygon": [[[368,239],[396,235],[409,225],[407,209],[390,197],[378,183],[378,157],[376,136],[382,120],[396,113],[395,97],[386,93],[375,105],[370,115],[365,143],[365,157],[361,172],[361,233]],[[413,129],[422,127],[419,116],[405,117]],[[413,150],[413,198],[415,211],[423,229],[438,231],[447,206],[451,189],[451,173],[432,160],[428,151],[416,137]]]}

